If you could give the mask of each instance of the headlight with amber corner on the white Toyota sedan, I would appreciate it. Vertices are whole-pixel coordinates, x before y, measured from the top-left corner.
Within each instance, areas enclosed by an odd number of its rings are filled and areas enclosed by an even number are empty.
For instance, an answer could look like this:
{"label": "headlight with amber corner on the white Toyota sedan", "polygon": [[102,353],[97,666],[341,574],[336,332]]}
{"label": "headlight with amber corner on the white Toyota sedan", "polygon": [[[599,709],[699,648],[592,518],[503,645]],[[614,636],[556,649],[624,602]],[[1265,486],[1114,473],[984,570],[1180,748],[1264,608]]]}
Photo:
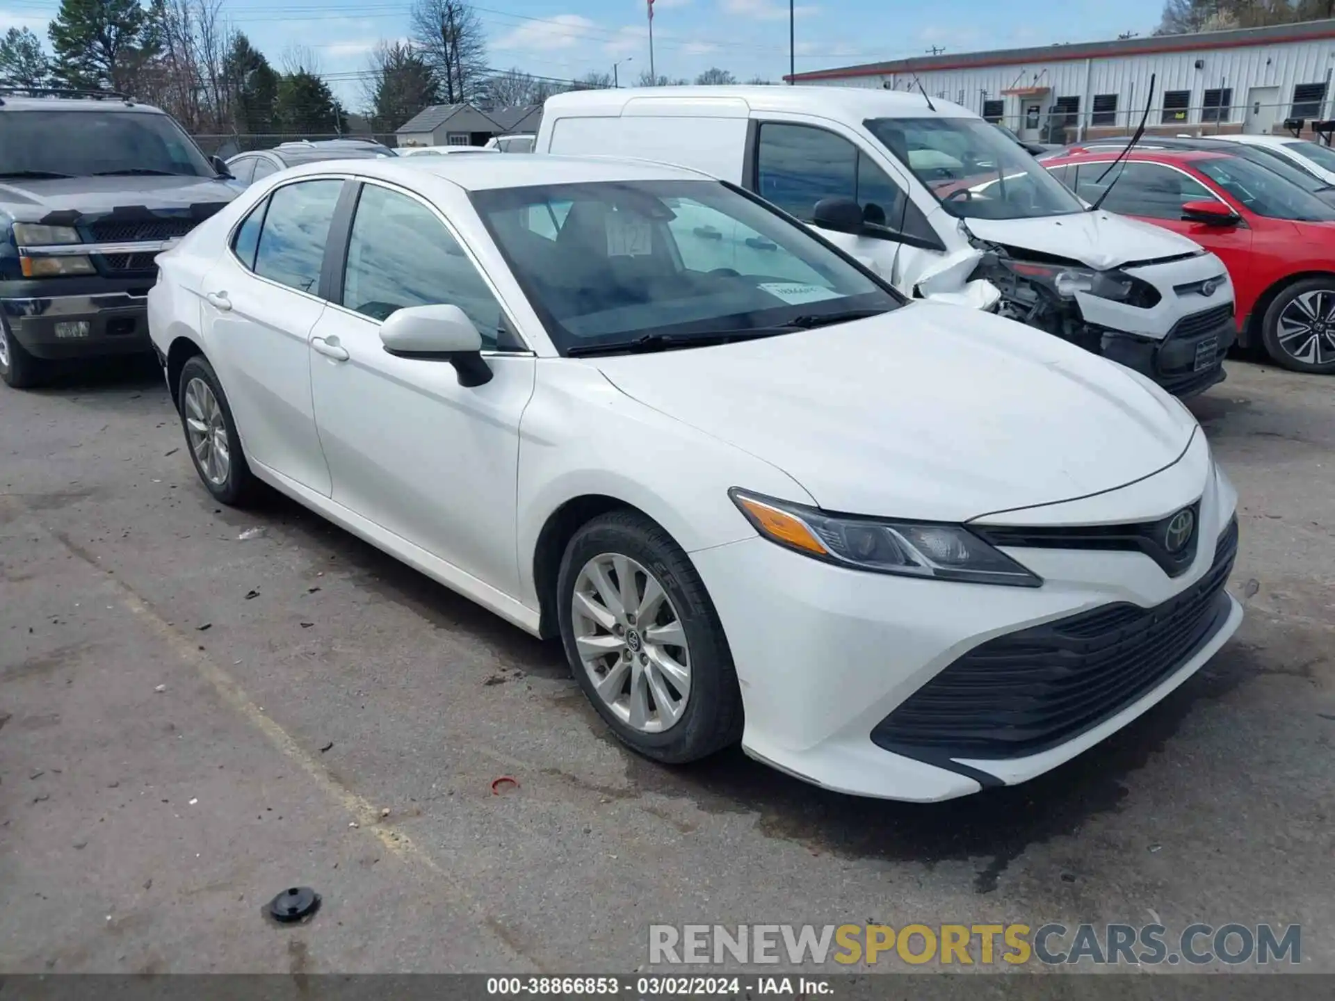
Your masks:
{"label": "headlight with amber corner on the white Toyota sedan", "polygon": [[826,563],[943,581],[1043,585],[1040,577],[963,525],[834,517],[736,487],[728,495],[766,539]]}

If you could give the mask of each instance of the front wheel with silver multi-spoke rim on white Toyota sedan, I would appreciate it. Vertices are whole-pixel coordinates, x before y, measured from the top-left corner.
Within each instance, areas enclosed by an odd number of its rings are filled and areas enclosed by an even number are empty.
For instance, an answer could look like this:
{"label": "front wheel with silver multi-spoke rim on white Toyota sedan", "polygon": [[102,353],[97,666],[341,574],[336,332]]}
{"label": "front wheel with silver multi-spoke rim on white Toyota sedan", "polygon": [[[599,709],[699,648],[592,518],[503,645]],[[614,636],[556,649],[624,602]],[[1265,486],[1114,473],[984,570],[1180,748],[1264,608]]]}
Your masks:
{"label": "front wheel with silver multi-spoke rim on white Toyota sedan", "polygon": [[728,639],[690,559],[641,514],[579,529],[557,583],[566,658],[594,709],[634,750],[702,758],[741,737]]}

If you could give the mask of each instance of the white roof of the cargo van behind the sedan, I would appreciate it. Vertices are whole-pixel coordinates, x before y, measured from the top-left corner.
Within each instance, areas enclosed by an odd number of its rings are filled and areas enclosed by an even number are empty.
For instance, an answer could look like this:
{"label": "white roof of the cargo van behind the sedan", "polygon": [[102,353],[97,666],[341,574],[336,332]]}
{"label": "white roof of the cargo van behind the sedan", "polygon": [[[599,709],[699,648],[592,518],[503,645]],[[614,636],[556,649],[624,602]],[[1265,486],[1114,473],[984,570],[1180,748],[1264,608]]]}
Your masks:
{"label": "white roof of the cargo van behind the sedan", "polygon": [[570,91],[547,97],[543,116],[565,111],[599,111],[605,115],[641,113],[654,105],[689,101],[700,116],[742,117],[749,111],[806,112],[826,117],[838,112],[846,119],[876,117],[969,117],[979,116],[944,97],[926,99],[917,89],[885,91],[869,87],[627,87],[625,89]]}

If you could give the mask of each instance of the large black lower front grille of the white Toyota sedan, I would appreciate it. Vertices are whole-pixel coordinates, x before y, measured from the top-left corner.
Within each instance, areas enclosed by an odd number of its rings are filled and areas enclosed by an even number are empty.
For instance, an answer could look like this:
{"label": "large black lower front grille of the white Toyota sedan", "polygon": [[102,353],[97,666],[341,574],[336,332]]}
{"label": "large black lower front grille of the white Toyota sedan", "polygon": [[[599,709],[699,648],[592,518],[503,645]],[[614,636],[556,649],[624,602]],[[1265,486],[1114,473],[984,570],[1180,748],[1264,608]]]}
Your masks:
{"label": "large black lower front grille of the white Toyota sedan", "polygon": [[939,763],[1023,758],[1069,741],[1153,689],[1219,631],[1236,554],[1234,519],[1210,571],[1157,607],[1109,605],[989,639],[909,695],[872,741]]}

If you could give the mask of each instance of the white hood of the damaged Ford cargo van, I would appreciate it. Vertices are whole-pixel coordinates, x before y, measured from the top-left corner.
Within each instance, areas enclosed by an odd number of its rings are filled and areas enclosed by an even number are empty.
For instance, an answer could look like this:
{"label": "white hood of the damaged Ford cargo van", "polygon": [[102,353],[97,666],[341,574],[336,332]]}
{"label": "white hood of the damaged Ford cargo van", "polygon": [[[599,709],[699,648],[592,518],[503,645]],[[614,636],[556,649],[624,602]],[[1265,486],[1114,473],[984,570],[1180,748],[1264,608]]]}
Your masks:
{"label": "white hood of the damaged Ford cargo van", "polygon": [[1113,212],[1072,212],[1039,219],[968,219],[975,236],[1017,250],[1069,258],[1107,270],[1199,254],[1185,236]]}

